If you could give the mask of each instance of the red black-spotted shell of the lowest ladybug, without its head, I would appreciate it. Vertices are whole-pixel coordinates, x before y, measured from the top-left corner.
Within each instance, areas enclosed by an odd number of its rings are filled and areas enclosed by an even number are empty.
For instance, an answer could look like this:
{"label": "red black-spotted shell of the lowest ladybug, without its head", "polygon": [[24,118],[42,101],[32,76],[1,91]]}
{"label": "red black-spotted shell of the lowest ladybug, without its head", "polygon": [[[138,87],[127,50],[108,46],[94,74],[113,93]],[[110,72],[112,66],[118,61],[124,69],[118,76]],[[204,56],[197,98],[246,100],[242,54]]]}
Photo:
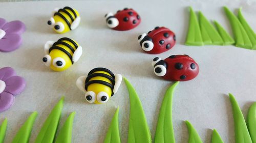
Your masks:
{"label": "red black-spotted shell of the lowest ladybug, without its head", "polygon": [[171,55],[164,61],[167,64],[167,70],[163,78],[166,80],[191,80],[199,73],[198,64],[188,55]]}

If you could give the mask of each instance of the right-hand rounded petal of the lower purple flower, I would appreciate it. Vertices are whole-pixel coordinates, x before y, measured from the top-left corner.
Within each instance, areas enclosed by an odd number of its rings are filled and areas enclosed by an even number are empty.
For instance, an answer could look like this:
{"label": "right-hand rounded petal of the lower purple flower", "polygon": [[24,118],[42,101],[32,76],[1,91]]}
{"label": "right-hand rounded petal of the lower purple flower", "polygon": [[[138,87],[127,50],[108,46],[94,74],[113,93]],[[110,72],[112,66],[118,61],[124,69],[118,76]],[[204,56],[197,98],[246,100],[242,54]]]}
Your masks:
{"label": "right-hand rounded petal of the lower purple flower", "polygon": [[23,77],[13,76],[5,81],[5,91],[13,95],[20,94],[26,87],[26,81]]}

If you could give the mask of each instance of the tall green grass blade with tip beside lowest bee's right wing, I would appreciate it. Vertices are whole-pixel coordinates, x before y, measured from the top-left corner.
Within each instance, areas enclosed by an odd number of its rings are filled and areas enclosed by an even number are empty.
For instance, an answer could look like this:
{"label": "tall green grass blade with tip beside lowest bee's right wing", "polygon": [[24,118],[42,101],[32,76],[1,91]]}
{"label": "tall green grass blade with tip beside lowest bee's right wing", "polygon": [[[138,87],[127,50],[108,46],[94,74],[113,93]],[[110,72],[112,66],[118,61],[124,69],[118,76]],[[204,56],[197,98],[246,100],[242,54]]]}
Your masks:
{"label": "tall green grass blade with tip beside lowest bee's right wing", "polygon": [[133,85],[124,78],[130,96],[130,119],[128,143],[150,143],[150,128],[147,125],[145,113]]}

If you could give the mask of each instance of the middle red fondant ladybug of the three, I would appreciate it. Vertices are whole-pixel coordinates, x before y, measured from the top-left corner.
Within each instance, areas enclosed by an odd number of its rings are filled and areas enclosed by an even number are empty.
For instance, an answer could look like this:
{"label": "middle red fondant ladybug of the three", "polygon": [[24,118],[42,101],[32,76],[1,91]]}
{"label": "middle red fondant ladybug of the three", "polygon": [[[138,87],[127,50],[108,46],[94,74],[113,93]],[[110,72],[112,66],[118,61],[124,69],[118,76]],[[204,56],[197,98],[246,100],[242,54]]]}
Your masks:
{"label": "middle red fondant ladybug of the three", "polygon": [[171,49],[176,43],[176,36],[168,28],[157,26],[147,34],[140,35],[138,42],[145,52],[157,54]]}

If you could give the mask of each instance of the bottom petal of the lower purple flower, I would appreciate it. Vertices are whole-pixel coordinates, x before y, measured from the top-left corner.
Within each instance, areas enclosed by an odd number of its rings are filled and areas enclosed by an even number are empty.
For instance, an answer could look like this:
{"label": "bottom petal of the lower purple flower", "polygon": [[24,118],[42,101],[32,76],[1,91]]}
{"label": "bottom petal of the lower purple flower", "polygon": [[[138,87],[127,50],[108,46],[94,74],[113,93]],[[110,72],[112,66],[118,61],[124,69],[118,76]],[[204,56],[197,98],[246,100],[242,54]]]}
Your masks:
{"label": "bottom petal of the lower purple flower", "polygon": [[0,94],[0,112],[9,109],[14,103],[14,96],[7,92]]}

